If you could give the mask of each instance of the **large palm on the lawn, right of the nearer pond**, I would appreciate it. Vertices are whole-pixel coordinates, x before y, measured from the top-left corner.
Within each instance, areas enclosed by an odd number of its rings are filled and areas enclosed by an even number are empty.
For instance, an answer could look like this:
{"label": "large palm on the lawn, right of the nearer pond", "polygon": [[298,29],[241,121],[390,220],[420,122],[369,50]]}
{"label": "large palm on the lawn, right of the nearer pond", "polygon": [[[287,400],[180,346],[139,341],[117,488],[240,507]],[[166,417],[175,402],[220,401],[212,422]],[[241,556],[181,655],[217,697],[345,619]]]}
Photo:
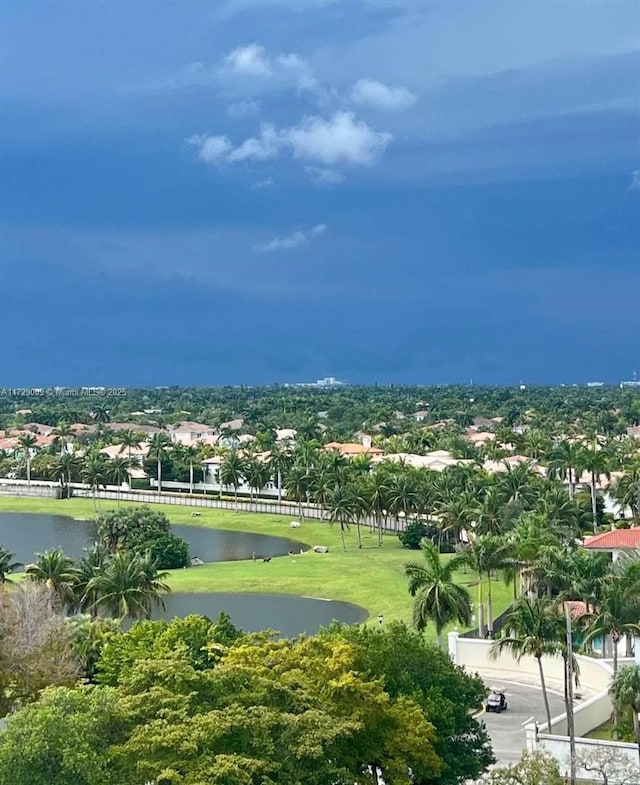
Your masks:
{"label": "large palm on the lawn, right of the nearer pond", "polygon": [[415,597],[413,624],[422,631],[432,621],[441,647],[442,632],[447,624],[453,621],[465,627],[471,624],[471,599],[469,592],[453,581],[453,574],[462,563],[460,556],[445,563],[436,546],[426,541],[422,551],[424,564],[411,562],[404,568],[409,579],[409,594]]}

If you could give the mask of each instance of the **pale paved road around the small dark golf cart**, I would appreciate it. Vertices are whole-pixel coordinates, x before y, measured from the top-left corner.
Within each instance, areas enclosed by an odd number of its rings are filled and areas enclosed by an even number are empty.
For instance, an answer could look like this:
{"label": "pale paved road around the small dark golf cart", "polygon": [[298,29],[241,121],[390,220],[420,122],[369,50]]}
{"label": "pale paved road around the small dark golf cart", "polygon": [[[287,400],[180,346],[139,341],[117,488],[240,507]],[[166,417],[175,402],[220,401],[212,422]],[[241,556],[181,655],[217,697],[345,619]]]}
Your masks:
{"label": "pale paved road around the small dark golf cart", "polygon": [[[484,713],[478,719],[487,726],[498,763],[515,763],[525,746],[523,724],[531,717],[540,724],[545,721],[544,701],[537,687],[513,682],[501,682],[500,686],[506,691],[507,710],[501,714]],[[552,717],[564,713],[564,700],[560,693],[549,692],[549,704]]]}

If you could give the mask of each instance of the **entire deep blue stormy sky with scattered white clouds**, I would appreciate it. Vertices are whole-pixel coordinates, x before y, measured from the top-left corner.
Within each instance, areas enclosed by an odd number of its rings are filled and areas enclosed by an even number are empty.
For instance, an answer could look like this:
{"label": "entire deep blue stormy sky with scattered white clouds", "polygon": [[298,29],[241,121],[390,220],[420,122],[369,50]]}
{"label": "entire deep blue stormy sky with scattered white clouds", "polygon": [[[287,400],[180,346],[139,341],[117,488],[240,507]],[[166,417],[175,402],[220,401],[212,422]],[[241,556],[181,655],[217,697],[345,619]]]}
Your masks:
{"label": "entire deep blue stormy sky with scattered white clouds", "polygon": [[640,373],[637,0],[0,0],[0,386]]}

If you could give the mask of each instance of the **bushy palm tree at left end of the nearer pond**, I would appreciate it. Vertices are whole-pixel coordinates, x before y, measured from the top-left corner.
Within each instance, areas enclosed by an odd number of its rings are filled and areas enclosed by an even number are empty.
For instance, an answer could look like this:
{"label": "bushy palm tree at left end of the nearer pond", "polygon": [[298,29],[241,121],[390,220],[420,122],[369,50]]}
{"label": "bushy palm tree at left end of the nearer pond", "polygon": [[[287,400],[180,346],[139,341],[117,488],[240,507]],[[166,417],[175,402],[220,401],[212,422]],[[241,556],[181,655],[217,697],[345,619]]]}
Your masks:
{"label": "bushy palm tree at left end of the nearer pond", "polygon": [[88,581],[85,601],[114,618],[148,619],[153,605],[164,607],[162,594],[170,591],[164,583],[167,575],[158,572],[149,553],[119,551]]}

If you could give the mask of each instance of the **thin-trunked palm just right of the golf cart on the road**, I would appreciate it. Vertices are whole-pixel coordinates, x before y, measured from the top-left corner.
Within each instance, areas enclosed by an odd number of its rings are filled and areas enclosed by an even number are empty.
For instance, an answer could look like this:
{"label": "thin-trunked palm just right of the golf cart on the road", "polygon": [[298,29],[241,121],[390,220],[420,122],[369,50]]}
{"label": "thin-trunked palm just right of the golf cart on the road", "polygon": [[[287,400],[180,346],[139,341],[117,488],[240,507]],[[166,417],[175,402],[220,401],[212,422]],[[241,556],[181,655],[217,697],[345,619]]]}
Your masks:
{"label": "thin-trunked palm just right of the golf cart on the road", "polygon": [[517,662],[523,657],[534,657],[538,663],[540,687],[547,715],[547,727],[551,728],[551,709],[544,677],[542,657],[560,653],[558,642],[558,613],[556,601],[550,597],[535,600],[521,597],[513,605],[506,621],[507,634],[491,647],[491,656],[497,657],[504,649],[511,652]]}

